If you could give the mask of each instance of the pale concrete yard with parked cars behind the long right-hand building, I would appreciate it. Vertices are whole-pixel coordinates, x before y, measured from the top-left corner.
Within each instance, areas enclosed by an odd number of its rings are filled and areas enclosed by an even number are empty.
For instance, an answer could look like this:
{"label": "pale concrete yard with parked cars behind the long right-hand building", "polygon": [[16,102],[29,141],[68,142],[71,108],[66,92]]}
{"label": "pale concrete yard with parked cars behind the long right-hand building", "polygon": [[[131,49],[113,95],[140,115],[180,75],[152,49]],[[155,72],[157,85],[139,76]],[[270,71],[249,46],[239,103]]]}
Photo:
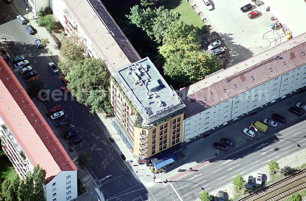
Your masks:
{"label": "pale concrete yard with parked cars behind the long right-hand building", "polygon": [[[197,10],[204,13],[205,24],[211,25],[211,30],[218,32],[230,49],[230,62],[227,67],[238,64],[253,55],[268,49],[270,43],[263,39],[263,34],[270,31],[271,12],[266,12],[265,5],[256,6],[250,0],[224,1],[209,0],[213,5],[213,10],[206,9],[203,0],[192,0],[192,5],[196,4]],[[253,5],[253,9],[242,13],[240,8],[248,3]],[[248,18],[248,13],[253,10],[260,12],[259,16],[253,19]],[[223,45],[223,44],[222,44]],[[273,44],[271,44],[273,46]]]}

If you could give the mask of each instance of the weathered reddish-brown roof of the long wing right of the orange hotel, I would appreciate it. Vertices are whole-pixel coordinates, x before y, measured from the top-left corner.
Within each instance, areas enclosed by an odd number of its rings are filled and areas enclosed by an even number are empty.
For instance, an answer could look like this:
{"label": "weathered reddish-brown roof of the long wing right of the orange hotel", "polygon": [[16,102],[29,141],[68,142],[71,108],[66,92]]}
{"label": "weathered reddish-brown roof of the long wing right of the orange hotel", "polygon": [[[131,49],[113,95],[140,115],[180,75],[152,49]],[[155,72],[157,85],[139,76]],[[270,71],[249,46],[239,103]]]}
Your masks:
{"label": "weathered reddish-brown roof of the long wing right of the orange hotel", "polygon": [[[275,59],[277,55],[280,59]],[[181,91],[181,98],[186,105],[185,118],[305,63],[306,33],[186,87]]]}

